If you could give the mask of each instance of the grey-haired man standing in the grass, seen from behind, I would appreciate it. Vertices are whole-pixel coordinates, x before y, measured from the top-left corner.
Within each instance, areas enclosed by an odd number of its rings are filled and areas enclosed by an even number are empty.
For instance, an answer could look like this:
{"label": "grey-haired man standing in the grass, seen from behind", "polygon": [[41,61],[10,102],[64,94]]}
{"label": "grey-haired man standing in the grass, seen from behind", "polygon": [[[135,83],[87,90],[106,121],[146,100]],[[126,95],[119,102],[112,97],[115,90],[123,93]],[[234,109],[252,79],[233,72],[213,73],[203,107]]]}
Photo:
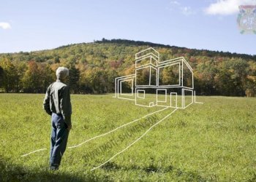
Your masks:
{"label": "grey-haired man standing in the grass, seen from behind", "polygon": [[58,170],[61,157],[67,146],[69,130],[72,128],[69,87],[67,80],[69,70],[59,67],[56,70],[57,80],[48,87],[43,107],[51,116],[52,132],[50,140],[50,170]]}

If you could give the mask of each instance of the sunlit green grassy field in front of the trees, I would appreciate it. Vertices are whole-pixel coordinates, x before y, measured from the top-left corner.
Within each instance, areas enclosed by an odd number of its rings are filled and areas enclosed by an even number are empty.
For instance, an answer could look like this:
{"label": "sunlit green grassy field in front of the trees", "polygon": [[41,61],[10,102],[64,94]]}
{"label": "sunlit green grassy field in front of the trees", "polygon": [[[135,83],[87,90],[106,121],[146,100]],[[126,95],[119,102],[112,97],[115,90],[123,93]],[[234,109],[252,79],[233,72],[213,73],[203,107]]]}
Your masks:
{"label": "sunlit green grassy field in front of the trees", "polygon": [[[144,108],[113,95],[72,95],[68,146],[162,107]],[[44,95],[0,95],[0,181],[256,181],[256,98],[197,97],[203,104],[140,119],[102,138],[67,149],[48,171],[50,116]],[[26,157],[23,154],[44,149]]]}

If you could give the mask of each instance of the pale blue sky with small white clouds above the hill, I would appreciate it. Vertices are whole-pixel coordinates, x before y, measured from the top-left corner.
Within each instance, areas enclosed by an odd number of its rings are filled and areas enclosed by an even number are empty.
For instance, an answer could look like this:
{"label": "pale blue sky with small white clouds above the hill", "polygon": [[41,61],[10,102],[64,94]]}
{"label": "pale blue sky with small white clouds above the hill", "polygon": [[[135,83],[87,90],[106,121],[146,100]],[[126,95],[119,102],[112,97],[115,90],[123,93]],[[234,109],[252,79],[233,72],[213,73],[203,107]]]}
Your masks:
{"label": "pale blue sky with small white clouds above the hill", "polygon": [[256,0],[8,0],[0,2],[0,53],[105,39],[256,55],[238,30],[238,6]]}

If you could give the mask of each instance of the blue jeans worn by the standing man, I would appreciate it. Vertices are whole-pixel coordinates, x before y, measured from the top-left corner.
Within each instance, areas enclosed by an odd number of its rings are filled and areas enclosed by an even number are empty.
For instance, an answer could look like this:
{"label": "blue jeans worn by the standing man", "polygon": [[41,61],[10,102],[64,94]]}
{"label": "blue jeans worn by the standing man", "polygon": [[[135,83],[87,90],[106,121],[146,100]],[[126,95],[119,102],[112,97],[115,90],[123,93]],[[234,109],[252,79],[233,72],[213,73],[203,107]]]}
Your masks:
{"label": "blue jeans worn by the standing man", "polygon": [[52,132],[50,138],[50,167],[58,168],[61,164],[61,157],[67,147],[69,131],[61,114],[51,115]]}

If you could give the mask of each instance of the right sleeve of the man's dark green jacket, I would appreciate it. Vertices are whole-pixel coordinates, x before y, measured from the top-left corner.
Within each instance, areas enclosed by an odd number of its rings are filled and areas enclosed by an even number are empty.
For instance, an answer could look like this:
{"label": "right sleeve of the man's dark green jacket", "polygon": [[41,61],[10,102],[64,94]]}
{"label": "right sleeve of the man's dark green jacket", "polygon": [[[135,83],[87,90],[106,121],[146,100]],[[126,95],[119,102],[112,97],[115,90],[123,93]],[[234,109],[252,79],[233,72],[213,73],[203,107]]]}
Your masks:
{"label": "right sleeve of the man's dark green jacket", "polygon": [[64,122],[69,126],[71,124],[72,106],[70,102],[69,87],[65,86],[61,89],[60,108]]}

